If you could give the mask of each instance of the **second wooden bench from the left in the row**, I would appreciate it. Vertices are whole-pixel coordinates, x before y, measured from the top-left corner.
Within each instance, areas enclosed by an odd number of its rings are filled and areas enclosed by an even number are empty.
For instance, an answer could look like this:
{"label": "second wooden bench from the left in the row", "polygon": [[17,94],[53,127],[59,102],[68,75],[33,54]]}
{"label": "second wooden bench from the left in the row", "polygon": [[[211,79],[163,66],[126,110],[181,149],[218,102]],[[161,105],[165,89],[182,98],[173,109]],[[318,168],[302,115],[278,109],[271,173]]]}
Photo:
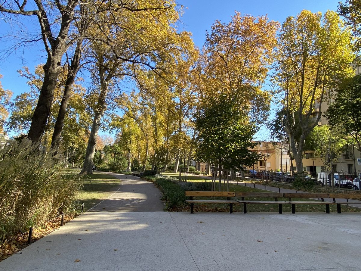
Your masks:
{"label": "second wooden bench from the left in the row", "polygon": [[[282,214],[282,204],[286,204],[288,202],[279,201],[278,198],[283,198],[283,193],[265,193],[265,192],[235,192],[236,198],[240,197],[242,200],[237,200],[239,203],[243,203],[243,212],[247,214],[247,203],[248,204],[278,204],[278,212]],[[254,201],[254,200],[244,200],[244,198],[274,198],[274,201]]]}

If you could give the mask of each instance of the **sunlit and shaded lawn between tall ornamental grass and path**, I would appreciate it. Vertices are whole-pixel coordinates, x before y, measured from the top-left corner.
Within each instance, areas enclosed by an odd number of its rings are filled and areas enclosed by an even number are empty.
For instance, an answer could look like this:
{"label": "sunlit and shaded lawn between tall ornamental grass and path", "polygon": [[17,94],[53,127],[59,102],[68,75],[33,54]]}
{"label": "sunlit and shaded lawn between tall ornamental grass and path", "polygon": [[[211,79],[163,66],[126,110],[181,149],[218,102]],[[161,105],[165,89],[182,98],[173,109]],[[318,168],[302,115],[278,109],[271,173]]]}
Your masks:
{"label": "sunlit and shaded lawn between tall ornamental grass and path", "polygon": [[[76,173],[75,173],[76,174]],[[84,186],[75,200],[75,205],[81,205],[84,202],[84,211],[109,197],[111,192],[116,191],[121,184],[121,180],[111,175],[102,173],[93,173],[81,179]]]}

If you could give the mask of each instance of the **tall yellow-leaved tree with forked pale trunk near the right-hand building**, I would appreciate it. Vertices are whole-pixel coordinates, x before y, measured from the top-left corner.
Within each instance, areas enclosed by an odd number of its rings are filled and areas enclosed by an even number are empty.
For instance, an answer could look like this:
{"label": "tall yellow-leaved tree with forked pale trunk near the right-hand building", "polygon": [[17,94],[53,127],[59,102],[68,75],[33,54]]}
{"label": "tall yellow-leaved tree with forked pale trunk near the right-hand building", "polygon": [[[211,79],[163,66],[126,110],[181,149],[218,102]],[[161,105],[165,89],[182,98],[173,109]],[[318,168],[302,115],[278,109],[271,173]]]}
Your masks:
{"label": "tall yellow-leaved tree with forked pale trunk near the right-hand building", "polygon": [[326,89],[353,73],[350,32],[333,11],[322,17],[319,12],[303,10],[283,23],[276,59],[273,79],[284,108],[284,128],[297,172],[303,172],[305,138],[321,119]]}

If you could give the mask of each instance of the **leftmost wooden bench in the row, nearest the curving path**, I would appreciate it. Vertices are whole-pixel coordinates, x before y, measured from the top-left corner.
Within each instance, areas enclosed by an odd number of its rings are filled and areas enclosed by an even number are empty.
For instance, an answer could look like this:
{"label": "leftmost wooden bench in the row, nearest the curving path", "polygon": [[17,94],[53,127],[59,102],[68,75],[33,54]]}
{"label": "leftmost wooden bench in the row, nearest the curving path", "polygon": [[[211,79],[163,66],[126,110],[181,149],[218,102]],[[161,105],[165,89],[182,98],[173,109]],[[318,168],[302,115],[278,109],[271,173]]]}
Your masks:
{"label": "leftmost wooden bench in the row, nearest the curving path", "polygon": [[[185,191],[185,195],[190,197],[186,202],[191,203],[191,214],[193,214],[194,203],[229,203],[229,212],[233,214],[233,204],[238,204],[237,201],[231,200],[234,197],[234,192],[217,192],[217,191]],[[193,199],[193,197],[227,197],[227,200],[220,199]]]}

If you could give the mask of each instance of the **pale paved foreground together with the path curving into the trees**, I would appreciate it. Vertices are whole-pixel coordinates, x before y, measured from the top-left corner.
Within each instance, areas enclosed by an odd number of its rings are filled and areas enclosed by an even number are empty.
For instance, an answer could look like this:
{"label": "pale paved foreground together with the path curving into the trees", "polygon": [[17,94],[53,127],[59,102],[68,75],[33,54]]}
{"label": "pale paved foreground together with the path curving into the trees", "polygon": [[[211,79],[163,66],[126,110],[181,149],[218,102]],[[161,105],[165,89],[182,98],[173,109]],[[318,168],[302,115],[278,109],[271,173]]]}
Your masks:
{"label": "pale paved foreground together with the path curving into the trees", "polygon": [[0,271],[361,270],[359,213],[150,211],[162,208],[153,184],[114,176],[118,191]]}

